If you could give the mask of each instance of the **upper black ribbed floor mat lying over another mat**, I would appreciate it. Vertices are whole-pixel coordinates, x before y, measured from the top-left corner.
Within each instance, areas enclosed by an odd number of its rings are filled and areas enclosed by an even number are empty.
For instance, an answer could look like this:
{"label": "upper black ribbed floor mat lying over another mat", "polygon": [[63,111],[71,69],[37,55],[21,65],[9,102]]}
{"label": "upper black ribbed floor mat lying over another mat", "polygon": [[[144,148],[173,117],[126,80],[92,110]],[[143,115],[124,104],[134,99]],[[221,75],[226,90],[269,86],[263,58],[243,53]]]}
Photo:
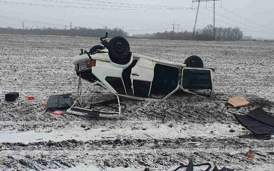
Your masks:
{"label": "upper black ribbed floor mat lying over another mat", "polygon": [[253,111],[248,113],[249,116],[263,123],[274,126],[274,116],[267,114],[261,107],[257,107]]}

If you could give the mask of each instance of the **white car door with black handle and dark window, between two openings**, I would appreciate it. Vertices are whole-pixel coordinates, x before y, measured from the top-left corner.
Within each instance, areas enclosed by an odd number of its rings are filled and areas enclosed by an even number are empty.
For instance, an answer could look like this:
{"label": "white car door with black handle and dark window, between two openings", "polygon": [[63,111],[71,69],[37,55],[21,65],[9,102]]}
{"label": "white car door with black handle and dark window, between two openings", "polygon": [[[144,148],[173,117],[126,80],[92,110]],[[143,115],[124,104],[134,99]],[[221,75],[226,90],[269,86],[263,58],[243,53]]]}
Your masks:
{"label": "white car door with black handle and dark window, between two openings", "polygon": [[132,68],[130,79],[133,85],[133,95],[148,97],[151,83],[154,77],[153,61],[140,58]]}

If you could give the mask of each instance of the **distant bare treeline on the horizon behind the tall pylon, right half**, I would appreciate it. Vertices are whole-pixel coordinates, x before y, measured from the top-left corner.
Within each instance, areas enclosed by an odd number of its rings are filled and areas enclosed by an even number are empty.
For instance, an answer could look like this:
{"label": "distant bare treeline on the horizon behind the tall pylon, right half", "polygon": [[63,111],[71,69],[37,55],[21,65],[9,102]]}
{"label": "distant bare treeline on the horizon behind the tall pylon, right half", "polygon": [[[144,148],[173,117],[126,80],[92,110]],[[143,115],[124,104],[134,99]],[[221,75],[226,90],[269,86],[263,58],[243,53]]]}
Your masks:
{"label": "distant bare treeline on the horizon behind the tall pylon, right half", "polygon": [[[197,29],[194,34],[194,40],[242,40],[243,32],[235,27],[215,27],[216,34],[214,38],[213,25],[207,25],[204,28]],[[157,32],[154,34],[133,34],[133,37],[146,37],[155,39],[172,39],[172,31]],[[192,31],[184,30],[174,33],[175,40],[191,40]]]}

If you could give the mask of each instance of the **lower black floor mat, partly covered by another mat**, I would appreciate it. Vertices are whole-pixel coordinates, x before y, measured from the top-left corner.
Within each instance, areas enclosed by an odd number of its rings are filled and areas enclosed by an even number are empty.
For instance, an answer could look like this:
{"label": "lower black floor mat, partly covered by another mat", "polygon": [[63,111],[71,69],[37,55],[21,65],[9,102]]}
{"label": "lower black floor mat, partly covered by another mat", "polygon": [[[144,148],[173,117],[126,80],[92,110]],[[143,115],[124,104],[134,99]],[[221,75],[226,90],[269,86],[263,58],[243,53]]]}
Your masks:
{"label": "lower black floor mat, partly covered by another mat", "polygon": [[[261,115],[258,116],[261,117]],[[274,127],[261,121],[258,121],[249,115],[235,115],[235,117],[239,123],[243,124],[247,129],[258,135],[274,134]]]}

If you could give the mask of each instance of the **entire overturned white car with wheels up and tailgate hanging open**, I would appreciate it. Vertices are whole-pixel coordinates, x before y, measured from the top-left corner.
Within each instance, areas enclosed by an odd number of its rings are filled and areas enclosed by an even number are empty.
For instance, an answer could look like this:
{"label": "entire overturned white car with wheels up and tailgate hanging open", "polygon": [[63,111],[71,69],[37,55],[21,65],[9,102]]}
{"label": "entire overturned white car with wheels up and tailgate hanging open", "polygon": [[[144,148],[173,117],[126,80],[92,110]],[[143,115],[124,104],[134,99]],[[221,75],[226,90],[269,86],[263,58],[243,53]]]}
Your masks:
{"label": "entire overturned white car with wheels up and tailgate hanging open", "polygon": [[[104,46],[93,46],[88,52],[77,53],[72,61],[81,78],[100,84],[118,98],[119,96],[138,100],[163,100],[178,89],[190,92],[190,89],[209,89],[213,86],[213,69],[203,68],[202,59],[190,56],[184,64],[158,60],[130,52],[128,41],[120,36],[103,40]],[[90,87],[89,86],[89,87]],[[85,92],[85,91],[84,91]],[[83,93],[84,93],[83,92]],[[82,94],[78,100],[81,98]],[[76,103],[76,102],[75,102]],[[75,105],[74,103],[74,105]],[[67,113],[78,115],[99,115],[100,117],[117,117],[119,112],[102,112],[72,107]]]}

